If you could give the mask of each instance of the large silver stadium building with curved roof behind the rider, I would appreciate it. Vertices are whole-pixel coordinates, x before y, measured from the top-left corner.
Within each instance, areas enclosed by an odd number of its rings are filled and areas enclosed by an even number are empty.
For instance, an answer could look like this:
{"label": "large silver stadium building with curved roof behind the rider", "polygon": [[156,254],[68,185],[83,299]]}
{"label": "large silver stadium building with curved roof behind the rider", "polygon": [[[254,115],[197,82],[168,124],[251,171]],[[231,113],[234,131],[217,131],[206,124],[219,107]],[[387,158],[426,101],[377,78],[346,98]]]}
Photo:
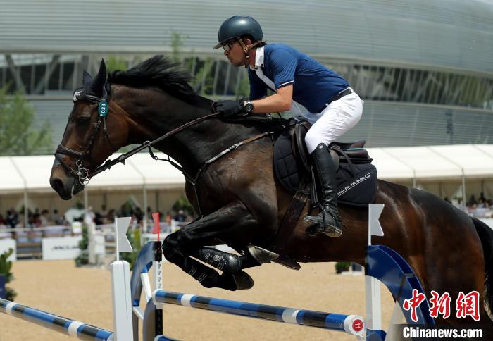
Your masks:
{"label": "large silver stadium building with curved roof behind the rider", "polygon": [[[248,94],[244,68],[213,51],[235,14],[346,77],[365,99],[345,137],[369,147],[493,143],[493,1],[0,0],[0,85],[27,94],[61,140],[82,70],[154,54],[213,99]],[[51,154],[52,150],[43,154]]]}

